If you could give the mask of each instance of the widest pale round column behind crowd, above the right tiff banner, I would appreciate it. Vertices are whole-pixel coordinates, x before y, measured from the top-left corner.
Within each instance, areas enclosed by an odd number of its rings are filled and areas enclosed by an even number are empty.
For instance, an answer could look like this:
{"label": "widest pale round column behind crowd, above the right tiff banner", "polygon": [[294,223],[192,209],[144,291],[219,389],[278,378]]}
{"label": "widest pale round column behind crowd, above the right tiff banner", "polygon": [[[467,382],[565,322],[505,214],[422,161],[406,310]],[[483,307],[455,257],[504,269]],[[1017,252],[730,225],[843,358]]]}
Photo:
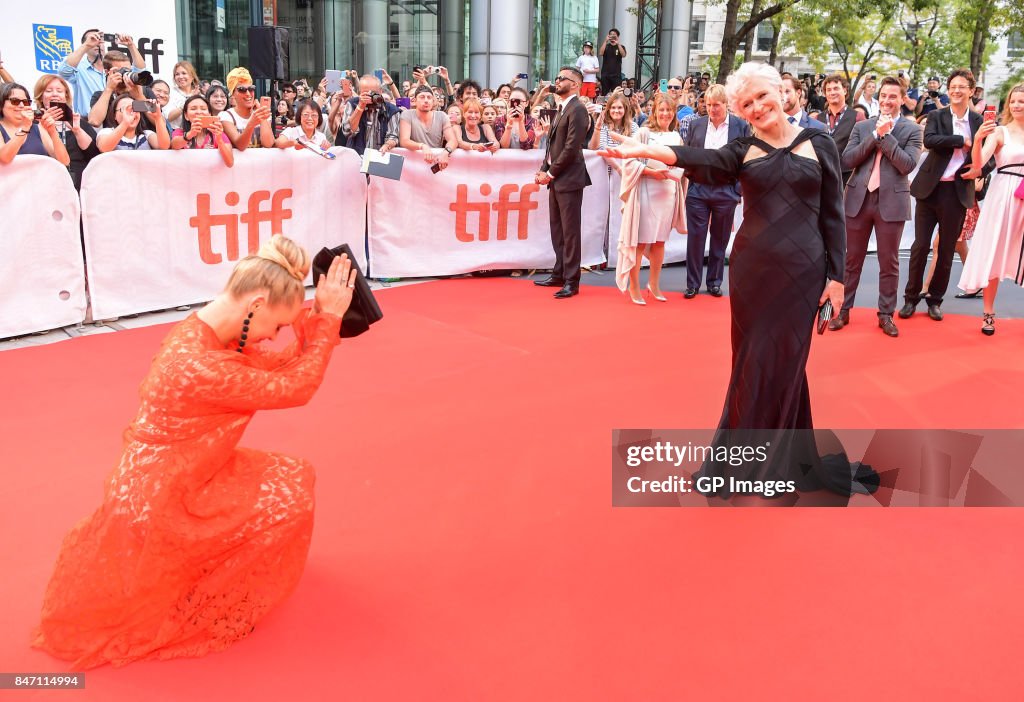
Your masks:
{"label": "widest pale round column behind crowd, above the right tiff banner", "polygon": [[529,12],[525,3],[472,0],[469,77],[497,88],[517,73],[529,73]]}

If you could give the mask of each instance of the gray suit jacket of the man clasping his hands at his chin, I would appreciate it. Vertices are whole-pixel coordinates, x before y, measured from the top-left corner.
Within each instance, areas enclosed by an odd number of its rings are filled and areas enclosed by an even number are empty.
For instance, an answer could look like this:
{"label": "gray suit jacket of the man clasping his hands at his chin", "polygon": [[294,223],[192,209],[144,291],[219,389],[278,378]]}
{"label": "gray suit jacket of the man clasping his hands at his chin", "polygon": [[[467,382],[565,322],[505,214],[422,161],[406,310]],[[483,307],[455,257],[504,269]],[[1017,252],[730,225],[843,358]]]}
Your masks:
{"label": "gray suit jacket of the man clasping his hands at his chin", "polygon": [[921,127],[912,120],[900,118],[882,139],[872,132],[879,118],[858,122],[850,135],[850,142],[843,151],[844,169],[853,169],[853,176],[846,186],[846,216],[856,217],[867,196],[867,181],[874,168],[876,153],[882,151],[879,162],[879,214],[887,222],[905,222],[910,219],[910,182],[907,175],[921,158]]}

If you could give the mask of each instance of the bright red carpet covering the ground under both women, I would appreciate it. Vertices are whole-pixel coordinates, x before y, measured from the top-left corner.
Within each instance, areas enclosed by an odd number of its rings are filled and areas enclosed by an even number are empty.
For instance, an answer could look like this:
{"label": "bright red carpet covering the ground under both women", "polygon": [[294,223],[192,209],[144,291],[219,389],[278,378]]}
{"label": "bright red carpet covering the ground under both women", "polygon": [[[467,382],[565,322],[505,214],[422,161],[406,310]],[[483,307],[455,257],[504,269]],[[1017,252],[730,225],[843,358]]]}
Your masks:
{"label": "bright red carpet covering the ground under both women", "polygon": [[[380,299],[314,400],[246,435],[318,471],[295,595],[225,653],[60,699],[1019,698],[1018,510],[611,509],[612,429],[717,424],[726,300],[497,279]],[[1024,426],[1024,321],[919,315],[893,340],[854,312],[815,341],[817,426]],[[67,669],[29,631],[166,332],[0,354],[0,671]]]}

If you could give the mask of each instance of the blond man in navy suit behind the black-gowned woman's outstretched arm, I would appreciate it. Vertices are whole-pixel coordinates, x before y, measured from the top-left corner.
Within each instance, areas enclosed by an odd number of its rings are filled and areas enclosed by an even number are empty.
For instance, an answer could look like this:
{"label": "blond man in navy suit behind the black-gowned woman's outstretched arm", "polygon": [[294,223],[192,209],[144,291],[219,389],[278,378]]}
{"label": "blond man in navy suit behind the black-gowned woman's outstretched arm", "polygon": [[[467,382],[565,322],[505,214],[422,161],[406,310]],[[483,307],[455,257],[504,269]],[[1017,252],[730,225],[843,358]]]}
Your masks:
{"label": "blond man in navy suit behind the black-gowned woman's outstretched arm", "polygon": [[[721,148],[742,136],[750,136],[751,125],[729,115],[725,88],[713,85],[705,92],[708,117],[690,123],[686,146]],[[686,292],[687,300],[696,296],[703,277],[703,251],[711,231],[711,253],[708,256],[708,292],[722,297],[725,275],[725,248],[732,233],[732,223],[739,204],[739,183],[705,185],[690,180],[686,190]]]}

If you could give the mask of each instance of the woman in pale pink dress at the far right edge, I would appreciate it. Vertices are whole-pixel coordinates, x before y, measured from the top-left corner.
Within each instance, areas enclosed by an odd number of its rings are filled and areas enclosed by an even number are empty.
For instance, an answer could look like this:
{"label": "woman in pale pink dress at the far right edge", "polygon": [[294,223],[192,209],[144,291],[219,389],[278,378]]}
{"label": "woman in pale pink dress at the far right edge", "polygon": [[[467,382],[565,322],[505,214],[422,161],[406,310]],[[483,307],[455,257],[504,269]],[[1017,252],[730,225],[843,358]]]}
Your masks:
{"label": "woman in pale pink dress at the far right edge", "polygon": [[[999,280],[1011,278],[1024,286],[1024,200],[1015,193],[1024,180],[1024,83],[1010,89],[1002,111],[1002,126],[986,121],[975,135],[972,164],[995,156],[996,172],[988,186],[985,207],[978,217],[971,255],[964,264],[959,287],[984,289],[982,334],[995,334],[995,293]],[[984,142],[984,145],[982,143]],[[977,166],[964,178],[977,178]]]}

